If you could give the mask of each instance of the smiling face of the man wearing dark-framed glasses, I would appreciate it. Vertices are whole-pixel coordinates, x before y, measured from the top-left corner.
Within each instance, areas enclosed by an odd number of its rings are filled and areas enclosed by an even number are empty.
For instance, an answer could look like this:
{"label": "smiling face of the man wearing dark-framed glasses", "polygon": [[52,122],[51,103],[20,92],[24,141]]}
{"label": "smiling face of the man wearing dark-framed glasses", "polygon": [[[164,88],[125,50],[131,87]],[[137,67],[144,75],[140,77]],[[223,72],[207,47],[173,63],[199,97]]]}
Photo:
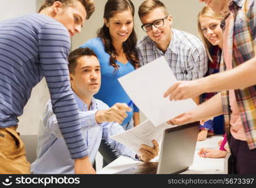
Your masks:
{"label": "smiling face of the man wearing dark-framed glasses", "polygon": [[[162,8],[153,9],[150,13],[142,16],[140,21],[142,21],[142,25],[144,24],[152,24],[159,19],[164,19],[167,15],[165,14]],[[169,44],[171,39],[171,28],[172,25],[172,16],[168,16],[164,19],[164,25],[156,28],[152,26],[152,30],[147,31],[148,36],[152,39],[157,46],[161,46],[163,43]]]}

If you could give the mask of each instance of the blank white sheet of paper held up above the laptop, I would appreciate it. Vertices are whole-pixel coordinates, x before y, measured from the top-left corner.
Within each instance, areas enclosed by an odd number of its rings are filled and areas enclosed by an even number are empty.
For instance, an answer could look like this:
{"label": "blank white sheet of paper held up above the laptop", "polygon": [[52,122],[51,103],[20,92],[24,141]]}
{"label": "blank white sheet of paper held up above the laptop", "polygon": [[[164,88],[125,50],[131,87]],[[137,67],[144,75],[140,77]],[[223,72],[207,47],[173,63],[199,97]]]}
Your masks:
{"label": "blank white sheet of paper held up above the laptop", "polygon": [[170,101],[165,91],[177,80],[164,56],[118,79],[133,103],[158,126],[196,107],[192,99]]}

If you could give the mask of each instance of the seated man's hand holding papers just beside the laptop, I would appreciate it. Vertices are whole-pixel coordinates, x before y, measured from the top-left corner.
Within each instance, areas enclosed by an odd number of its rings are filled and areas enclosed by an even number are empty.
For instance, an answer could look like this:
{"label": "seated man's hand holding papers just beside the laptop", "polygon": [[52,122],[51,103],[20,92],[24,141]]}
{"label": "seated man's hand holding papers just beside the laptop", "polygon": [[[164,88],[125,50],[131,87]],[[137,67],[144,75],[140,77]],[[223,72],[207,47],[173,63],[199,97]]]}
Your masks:
{"label": "seated man's hand holding papers just beside the laptop", "polygon": [[148,145],[142,144],[142,147],[140,147],[140,159],[143,162],[149,162],[151,159],[157,157],[159,155],[159,144],[157,141],[152,140],[153,147],[149,147]]}

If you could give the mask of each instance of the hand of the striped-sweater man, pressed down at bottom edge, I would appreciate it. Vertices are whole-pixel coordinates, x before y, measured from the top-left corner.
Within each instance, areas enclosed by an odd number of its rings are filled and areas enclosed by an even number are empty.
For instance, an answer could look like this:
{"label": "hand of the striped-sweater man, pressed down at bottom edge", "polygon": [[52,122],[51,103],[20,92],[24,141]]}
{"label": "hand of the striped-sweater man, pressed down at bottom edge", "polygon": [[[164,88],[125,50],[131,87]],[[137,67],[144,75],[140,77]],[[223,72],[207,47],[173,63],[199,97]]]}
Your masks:
{"label": "hand of the striped-sweater man, pressed down at bottom edge", "polygon": [[96,174],[89,156],[82,159],[75,159],[75,174]]}

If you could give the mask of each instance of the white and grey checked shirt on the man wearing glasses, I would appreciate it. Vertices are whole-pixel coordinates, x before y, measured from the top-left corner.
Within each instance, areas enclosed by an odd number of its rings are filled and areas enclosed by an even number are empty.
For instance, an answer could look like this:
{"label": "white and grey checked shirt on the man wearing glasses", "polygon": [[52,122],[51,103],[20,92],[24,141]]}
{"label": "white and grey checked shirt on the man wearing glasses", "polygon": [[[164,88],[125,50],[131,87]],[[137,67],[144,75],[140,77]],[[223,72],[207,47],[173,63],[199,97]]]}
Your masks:
{"label": "white and grey checked shirt on the man wearing glasses", "polygon": [[177,80],[202,78],[208,70],[208,57],[203,43],[192,34],[176,29],[172,31],[172,40],[165,53],[148,36],[138,41],[136,48],[140,65],[165,56]]}

